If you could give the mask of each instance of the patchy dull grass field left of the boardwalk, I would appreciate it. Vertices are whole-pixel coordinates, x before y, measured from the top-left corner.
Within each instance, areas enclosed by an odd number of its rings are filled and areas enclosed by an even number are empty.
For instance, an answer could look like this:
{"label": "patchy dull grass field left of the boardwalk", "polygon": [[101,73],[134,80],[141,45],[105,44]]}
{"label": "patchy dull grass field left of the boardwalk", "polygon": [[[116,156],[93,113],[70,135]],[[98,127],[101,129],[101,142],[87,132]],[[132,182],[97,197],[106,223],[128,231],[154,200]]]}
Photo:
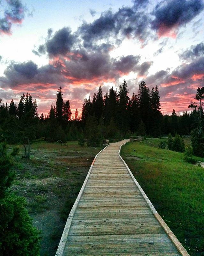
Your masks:
{"label": "patchy dull grass field left of the boardwalk", "polygon": [[31,145],[30,160],[16,157],[11,189],[26,198],[33,224],[41,230],[41,256],[55,255],[72,205],[101,149],[82,148],[78,142],[36,143]]}

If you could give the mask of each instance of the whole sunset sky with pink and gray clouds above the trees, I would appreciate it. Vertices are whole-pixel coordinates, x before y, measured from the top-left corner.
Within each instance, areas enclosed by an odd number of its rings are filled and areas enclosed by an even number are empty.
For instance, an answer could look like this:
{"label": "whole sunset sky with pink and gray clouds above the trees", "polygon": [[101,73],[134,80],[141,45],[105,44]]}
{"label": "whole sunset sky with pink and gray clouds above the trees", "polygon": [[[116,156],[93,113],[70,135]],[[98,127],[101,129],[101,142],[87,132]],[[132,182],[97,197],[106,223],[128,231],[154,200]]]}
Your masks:
{"label": "whole sunset sky with pink and gray clouds above the trees", "polygon": [[162,113],[189,110],[204,86],[203,0],[1,0],[0,97],[32,94],[47,114],[63,88],[72,112],[126,79],[160,92]]}

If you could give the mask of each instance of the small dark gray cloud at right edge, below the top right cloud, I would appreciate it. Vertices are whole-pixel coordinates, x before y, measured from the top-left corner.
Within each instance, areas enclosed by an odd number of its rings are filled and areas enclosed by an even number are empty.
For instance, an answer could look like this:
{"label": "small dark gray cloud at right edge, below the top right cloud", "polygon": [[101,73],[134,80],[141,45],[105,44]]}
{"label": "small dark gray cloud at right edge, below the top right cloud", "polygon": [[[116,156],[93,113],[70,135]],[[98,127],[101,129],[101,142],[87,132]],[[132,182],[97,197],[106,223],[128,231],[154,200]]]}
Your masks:
{"label": "small dark gray cloud at right edge, below the top right cloud", "polygon": [[184,60],[194,59],[199,56],[204,55],[204,44],[200,43],[197,45],[192,45],[190,49],[187,49],[183,53],[179,54],[179,57]]}

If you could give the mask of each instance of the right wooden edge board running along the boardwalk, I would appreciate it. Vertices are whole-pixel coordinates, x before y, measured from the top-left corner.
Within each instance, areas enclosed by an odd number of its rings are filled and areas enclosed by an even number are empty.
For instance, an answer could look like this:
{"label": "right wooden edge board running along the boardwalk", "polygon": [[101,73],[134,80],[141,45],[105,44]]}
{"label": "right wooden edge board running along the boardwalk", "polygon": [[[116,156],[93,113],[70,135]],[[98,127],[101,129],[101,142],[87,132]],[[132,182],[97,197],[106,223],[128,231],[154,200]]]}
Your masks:
{"label": "right wooden edge board running along the boardwalk", "polygon": [[[127,142],[125,142],[124,144],[122,144],[120,146],[120,149],[118,151],[118,155],[120,156],[120,150],[122,148],[122,146],[124,146]],[[159,215],[159,213],[156,211],[156,209],[154,208],[153,204],[150,202],[149,198],[147,197],[147,195],[144,193],[144,190],[141,188],[140,184],[137,182],[137,180],[135,179],[135,177],[133,176],[132,172],[130,171],[128,165],[126,164],[126,162],[123,160],[123,158],[120,156],[120,159],[123,161],[123,163],[125,164],[126,168],[128,169],[128,172],[130,173],[133,181],[135,182],[136,186],[138,187],[138,189],[140,190],[142,196],[144,197],[145,201],[147,202],[147,204],[149,205],[150,210],[152,211],[152,213],[154,214],[155,218],[157,219],[157,221],[159,222],[159,224],[162,226],[162,228],[164,229],[164,231],[166,232],[166,234],[169,236],[169,238],[171,239],[171,241],[173,242],[173,244],[176,246],[177,250],[180,252],[180,254],[182,256],[190,256],[188,254],[188,252],[186,251],[186,249],[183,247],[183,245],[179,242],[179,240],[177,239],[177,237],[173,234],[173,232],[171,231],[171,229],[168,227],[168,225],[165,223],[165,221],[162,219],[162,217]]]}

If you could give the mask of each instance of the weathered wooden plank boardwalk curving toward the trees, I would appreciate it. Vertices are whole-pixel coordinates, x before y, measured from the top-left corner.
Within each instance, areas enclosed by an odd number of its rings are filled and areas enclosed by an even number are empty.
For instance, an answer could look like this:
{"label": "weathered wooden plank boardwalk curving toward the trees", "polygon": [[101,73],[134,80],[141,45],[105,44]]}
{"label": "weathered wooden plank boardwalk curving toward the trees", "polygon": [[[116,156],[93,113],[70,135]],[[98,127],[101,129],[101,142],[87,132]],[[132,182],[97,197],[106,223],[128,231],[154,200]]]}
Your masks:
{"label": "weathered wooden plank boardwalk curving toward the trees", "polygon": [[56,256],[189,255],[120,157],[127,141],[96,155]]}

